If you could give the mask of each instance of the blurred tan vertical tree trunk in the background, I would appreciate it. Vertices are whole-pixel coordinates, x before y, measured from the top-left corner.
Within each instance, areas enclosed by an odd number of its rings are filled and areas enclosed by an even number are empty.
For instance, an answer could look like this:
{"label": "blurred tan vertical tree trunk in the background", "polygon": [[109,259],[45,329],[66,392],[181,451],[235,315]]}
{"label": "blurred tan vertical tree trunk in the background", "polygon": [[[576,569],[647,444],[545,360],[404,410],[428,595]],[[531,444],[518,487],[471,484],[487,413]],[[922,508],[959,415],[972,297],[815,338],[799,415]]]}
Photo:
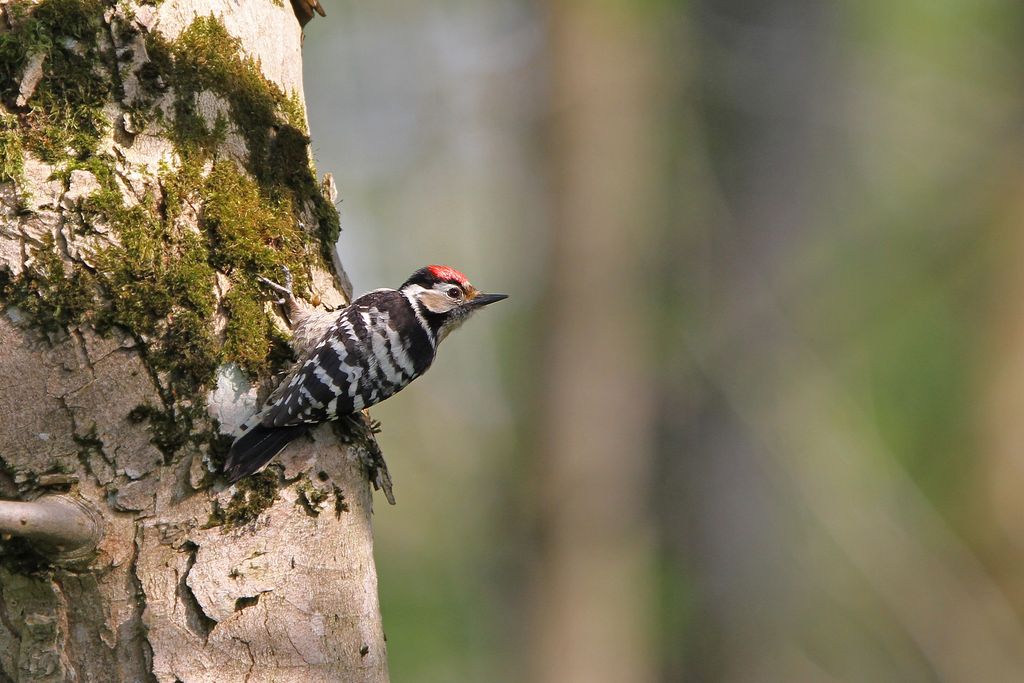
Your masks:
{"label": "blurred tan vertical tree trunk in the background", "polygon": [[649,292],[658,164],[656,23],[549,3],[554,246],[537,463],[539,683],[654,680]]}

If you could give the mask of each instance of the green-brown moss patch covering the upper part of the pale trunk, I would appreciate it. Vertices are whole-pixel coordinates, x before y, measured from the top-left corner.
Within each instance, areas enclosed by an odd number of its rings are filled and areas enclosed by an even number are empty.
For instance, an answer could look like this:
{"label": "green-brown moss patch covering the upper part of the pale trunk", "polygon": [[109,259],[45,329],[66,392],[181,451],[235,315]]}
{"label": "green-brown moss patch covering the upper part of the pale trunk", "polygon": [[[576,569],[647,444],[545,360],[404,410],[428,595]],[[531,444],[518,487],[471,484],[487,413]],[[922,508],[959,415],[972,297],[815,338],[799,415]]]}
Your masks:
{"label": "green-brown moss patch covering the upper part of the pale trunk", "polygon": [[[150,424],[170,461],[185,444],[211,453],[223,445],[205,413],[218,366],[233,361],[265,376],[291,359],[257,278],[279,279],[288,265],[301,292],[310,257],[331,267],[338,219],[315,182],[298,96],[265,79],[213,16],[196,19],[173,41],[148,34],[139,94],[119,102],[119,61],[103,20],[110,6],[42,0],[16,2],[8,12],[15,20],[0,35],[0,97],[13,106],[26,69],[41,57],[42,72],[25,105],[0,120],[0,181],[19,180],[28,152],[66,183],[75,170],[90,172],[99,189],[76,207],[80,221],[68,223],[97,238],[88,264],[48,242],[17,276],[0,273],[0,297],[49,334],[83,324],[128,332],[163,402],[131,417]],[[135,34],[122,24],[112,29],[124,42]],[[122,69],[130,57],[121,55]],[[157,106],[168,92],[172,116]],[[225,103],[212,121],[199,110],[202,93]],[[112,103],[136,128],[163,126],[174,144],[173,167],[159,169],[137,204],[126,203],[118,161],[98,153]],[[245,141],[243,158],[224,155],[228,135]],[[299,222],[309,211],[317,222],[312,232]],[[215,328],[221,315],[224,326]],[[246,509],[263,500],[257,492],[245,499],[238,506]]]}

